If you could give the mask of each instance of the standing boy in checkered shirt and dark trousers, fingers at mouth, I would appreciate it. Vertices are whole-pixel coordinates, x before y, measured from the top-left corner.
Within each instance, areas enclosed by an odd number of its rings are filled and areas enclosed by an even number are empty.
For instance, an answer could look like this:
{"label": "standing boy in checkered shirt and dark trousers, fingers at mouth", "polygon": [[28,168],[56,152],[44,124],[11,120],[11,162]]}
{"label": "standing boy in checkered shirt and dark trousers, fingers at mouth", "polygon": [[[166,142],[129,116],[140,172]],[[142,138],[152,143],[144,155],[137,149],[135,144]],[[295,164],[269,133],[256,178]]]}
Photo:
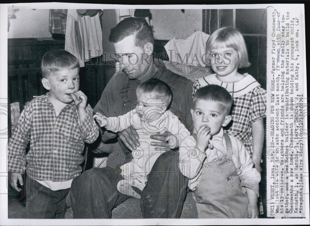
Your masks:
{"label": "standing boy in checkered shirt and dark trousers, fingers at mouth", "polygon": [[[42,84],[49,92],[24,107],[8,142],[12,187],[21,191],[26,170],[26,212],[29,218],[63,218],[66,196],[81,174],[84,141],[94,142],[99,129],[87,97],[79,91],[78,59],[65,50],[51,50],[41,63]],[[26,153],[30,141],[30,150]]]}

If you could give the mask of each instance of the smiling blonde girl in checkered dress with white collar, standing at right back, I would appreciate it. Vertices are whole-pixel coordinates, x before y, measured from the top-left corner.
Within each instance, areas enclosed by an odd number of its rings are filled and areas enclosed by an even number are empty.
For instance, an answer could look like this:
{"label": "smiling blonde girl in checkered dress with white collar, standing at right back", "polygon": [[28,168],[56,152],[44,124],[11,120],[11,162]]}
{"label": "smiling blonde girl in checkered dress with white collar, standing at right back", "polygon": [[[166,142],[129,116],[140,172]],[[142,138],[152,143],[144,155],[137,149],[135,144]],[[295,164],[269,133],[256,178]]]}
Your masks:
{"label": "smiling blonde girl in checkered dress with white collar, standing at right back", "polygon": [[210,84],[228,90],[233,97],[232,123],[225,131],[243,142],[260,173],[267,94],[255,78],[237,72],[238,68],[250,66],[241,33],[226,27],[216,30],[206,43],[206,55],[215,74],[196,80],[193,95],[197,89]]}

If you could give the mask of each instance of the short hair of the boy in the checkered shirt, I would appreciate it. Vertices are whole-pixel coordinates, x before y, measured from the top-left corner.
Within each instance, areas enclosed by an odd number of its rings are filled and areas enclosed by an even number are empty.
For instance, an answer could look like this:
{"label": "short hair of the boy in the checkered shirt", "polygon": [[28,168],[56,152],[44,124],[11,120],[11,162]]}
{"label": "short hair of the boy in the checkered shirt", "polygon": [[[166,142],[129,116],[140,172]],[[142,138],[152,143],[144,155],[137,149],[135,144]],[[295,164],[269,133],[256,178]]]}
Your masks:
{"label": "short hair of the boy in the checkered shirt", "polygon": [[78,59],[66,50],[50,50],[41,61],[43,78],[47,78],[51,73],[75,68],[80,69]]}

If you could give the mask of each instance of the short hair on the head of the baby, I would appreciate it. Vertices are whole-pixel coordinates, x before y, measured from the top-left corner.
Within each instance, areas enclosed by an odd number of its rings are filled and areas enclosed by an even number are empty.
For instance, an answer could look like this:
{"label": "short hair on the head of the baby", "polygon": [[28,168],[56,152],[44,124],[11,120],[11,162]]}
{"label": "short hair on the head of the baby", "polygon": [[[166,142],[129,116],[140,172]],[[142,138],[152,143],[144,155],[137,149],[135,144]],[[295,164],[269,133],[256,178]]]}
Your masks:
{"label": "short hair on the head of the baby", "polygon": [[141,83],[136,89],[137,95],[140,93],[149,93],[153,98],[162,99],[164,104],[168,107],[172,99],[172,91],[165,82],[151,78]]}

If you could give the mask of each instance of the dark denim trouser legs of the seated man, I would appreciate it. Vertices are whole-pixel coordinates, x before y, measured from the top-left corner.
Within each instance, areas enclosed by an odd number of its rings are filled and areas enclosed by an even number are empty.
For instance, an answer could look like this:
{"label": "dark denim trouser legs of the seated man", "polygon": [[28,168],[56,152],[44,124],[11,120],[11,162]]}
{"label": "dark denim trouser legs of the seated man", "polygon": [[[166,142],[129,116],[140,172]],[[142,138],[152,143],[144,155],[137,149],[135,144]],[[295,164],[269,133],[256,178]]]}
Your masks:
{"label": "dark denim trouser legs of the seated man", "polygon": [[[163,153],[155,162],[141,195],[144,218],[179,218],[188,179],[178,166],[178,152]],[[70,191],[73,218],[111,218],[112,210],[131,196],[117,191],[119,169],[92,168],[73,179]],[[138,201],[138,200],[137,200]]]}

